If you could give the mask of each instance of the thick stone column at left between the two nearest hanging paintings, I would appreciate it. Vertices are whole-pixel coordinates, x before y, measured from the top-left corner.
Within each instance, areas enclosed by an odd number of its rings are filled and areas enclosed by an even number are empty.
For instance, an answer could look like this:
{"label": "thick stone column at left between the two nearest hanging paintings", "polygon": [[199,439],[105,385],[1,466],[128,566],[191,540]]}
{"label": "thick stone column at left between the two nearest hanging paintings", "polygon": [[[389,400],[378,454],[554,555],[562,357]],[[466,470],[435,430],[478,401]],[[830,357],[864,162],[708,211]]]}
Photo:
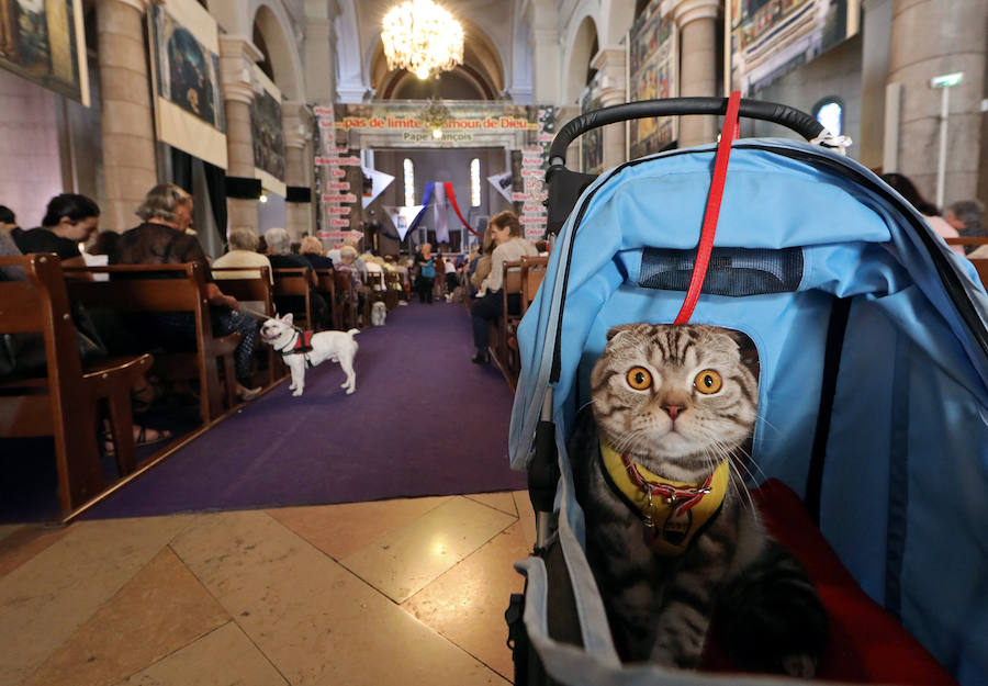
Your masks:
{"label": "thick stone column at left between the two nearest hanging paintings", "polygon": [[138,224],[134,210],[158,182],[147,52],[146,0],[99,0],[100,108],[103,134],[104,229]]}

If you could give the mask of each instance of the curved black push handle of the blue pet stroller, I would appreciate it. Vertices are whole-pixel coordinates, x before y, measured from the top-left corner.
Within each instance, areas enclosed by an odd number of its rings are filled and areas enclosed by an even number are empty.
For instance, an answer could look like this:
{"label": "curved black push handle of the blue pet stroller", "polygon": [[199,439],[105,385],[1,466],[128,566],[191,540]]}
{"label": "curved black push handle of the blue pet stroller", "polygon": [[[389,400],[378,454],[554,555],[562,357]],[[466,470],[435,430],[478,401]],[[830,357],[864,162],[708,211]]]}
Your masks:
{"label": "curved black push handle of the blue pet stroller", "polygon": [[[682,114],[725,114],[727,98],[669,98],[665,100],[642,100],[627,102],[594,110],[570,120],[563,126],[549,148],[549,166],[565,166],[566,148],[586,132],[604,126],[636,119],[652,116],[678,116]],[[816,119],[788,105],[761,100],[741,100],[740,116],[781,124],[798,133],[807,140],[812,140],[823,131],[823,125]]]}

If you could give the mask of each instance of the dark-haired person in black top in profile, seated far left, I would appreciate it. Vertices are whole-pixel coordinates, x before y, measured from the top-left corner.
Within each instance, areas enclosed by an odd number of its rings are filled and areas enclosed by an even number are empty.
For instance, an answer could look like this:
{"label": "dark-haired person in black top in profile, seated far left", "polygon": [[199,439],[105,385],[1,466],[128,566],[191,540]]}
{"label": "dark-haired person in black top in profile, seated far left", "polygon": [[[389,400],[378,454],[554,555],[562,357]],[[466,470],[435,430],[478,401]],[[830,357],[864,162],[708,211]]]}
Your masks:
{"label": "dark-haired person in black top in profile, seated far left", "polygon": [[64,267],[86,267],[79,244],[100,226],[100,206],[86,195],[61,193],[48,202],[40,228],[14,235],[21,252],[54,252]]}

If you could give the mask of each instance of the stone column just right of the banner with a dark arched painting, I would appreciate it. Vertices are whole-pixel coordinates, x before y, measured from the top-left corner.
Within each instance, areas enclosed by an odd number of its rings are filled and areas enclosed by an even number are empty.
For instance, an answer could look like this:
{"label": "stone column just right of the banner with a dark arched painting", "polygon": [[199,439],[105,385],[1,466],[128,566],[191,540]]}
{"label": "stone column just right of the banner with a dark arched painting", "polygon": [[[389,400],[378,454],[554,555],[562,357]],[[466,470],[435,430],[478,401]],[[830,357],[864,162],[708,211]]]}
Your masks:
{"label": "stone column just right of the banner with a dark arched painting", "polygon": [[[220,70],[226,112],[226,176],[254,178],[254,135],[250,103],[254,101],[254,64],[261,52],[244,36],[220,36]],[[226,199],[231,228],[257,232],[257,200]]]}

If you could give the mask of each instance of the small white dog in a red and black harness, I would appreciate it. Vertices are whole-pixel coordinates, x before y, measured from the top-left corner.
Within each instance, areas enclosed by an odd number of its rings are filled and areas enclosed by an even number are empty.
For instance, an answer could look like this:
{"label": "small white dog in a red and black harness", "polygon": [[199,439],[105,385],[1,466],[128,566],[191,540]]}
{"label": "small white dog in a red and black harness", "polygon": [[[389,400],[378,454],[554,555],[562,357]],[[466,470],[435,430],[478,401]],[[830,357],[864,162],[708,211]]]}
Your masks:
{"label": "small white dog in a red and black harness", "polygon": [[[292,326],[291,313],[280,319],[268,319],[261,325],[261,338],[281,352],[284,363],[292,370],[292,395],[302,395],[305,389],[305,368],[315,367],[326,360],[339,362],[347,380],[340,387],[349,395],[357,390],[357,374],[353,372],[353,358],[357,356],[357,341],[353,336],[360,331],[301,331]],[[310,338],[310,336],[312,338]]]}

